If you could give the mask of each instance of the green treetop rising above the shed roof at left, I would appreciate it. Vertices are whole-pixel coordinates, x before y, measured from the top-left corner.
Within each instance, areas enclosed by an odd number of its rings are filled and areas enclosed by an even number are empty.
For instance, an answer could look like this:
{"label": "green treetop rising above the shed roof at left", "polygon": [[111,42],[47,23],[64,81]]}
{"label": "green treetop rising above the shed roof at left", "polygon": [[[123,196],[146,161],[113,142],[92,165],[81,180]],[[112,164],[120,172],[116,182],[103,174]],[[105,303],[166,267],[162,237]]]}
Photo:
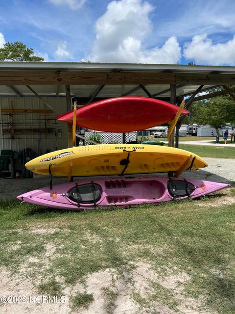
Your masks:
{"label": "green treetop rising above the shed roof at left", "polygon": [[44,61],[44,58],[33,55],[33,49],[19,41],[7,42],[0,49],[0,61]]}

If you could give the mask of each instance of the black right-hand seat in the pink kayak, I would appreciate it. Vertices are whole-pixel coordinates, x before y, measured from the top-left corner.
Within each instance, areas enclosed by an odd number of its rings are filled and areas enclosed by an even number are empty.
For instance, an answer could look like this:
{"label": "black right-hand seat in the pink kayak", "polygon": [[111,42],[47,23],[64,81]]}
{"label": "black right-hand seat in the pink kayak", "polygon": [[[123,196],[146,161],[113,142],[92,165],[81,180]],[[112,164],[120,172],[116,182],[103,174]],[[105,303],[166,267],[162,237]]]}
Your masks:
{"label": "black right-hand seat in the pink kayak", "polygon": [[176,197],[189,196],[194,190],[195,186],[183,180],[169,180],[167,183],[167,189],[170,196],[174,197],[174,191],[176,192]]}

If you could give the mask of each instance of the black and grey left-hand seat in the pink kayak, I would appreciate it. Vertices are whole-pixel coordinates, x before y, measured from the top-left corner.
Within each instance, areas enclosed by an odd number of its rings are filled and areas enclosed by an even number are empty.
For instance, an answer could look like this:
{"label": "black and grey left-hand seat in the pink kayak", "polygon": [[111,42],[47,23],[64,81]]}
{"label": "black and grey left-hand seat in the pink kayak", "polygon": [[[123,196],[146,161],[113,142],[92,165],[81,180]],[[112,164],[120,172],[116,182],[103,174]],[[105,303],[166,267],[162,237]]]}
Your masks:
{"label": "black and grey left-hand seat in the pink kayak", "polygon": [[[94,194],[93,194],[94,191]],[[102,189],[98,184],[95,183],[87,183],[87,184],[81,184],[78,185],[78,192],[77,187],[74,186],[70,192],[69,192],[69,198],[71,201],[76,202],[79,200],[80,204],[90,204],[95,202],[98,202],[101,198]]]}

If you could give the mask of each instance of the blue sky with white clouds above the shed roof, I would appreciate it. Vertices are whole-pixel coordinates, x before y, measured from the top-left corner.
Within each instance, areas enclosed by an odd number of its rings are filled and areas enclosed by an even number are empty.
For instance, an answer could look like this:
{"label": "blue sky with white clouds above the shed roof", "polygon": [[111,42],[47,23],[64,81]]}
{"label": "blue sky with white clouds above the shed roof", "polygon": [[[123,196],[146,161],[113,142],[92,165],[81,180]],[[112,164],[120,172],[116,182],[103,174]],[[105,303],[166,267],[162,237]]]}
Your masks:
{"label": "blue sky with white clouds above the shed roof", "polygon": [[234,0],[0,0],[0,47],[45,61],[235,65]]}

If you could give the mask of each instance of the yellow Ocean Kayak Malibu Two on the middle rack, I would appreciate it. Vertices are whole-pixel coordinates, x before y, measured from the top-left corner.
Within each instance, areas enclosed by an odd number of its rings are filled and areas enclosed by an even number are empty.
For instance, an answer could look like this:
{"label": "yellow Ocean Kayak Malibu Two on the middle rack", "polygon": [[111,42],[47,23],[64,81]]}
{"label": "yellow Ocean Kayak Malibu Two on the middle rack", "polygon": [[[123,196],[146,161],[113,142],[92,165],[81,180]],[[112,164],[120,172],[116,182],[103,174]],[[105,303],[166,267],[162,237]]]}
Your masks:
{"label": "yellow Ocean Kayak Malibu Two on the middle rack", "polygon": [[72,147],[34,158],[25,164],[37,174],[67,176],[127,175],[174,172],[207,167],[188,151],[144,144],[101,144]]}

